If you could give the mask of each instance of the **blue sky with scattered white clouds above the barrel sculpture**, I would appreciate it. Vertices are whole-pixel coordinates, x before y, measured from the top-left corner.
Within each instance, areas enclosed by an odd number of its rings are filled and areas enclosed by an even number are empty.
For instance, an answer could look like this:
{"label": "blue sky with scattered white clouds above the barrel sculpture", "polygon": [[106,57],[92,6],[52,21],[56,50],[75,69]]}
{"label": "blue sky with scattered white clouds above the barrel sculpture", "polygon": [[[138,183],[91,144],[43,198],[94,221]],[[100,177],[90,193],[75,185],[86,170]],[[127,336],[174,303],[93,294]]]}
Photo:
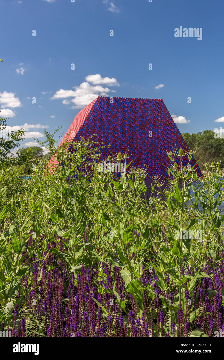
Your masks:
{"label": "blue sky with scattered white clouds above the barrel sculpture", "polygon": [[[0,0],[0,12],[1,117],[27,131],[22,146],[44,126],[66,132],[97,96],[163,99],[181,132],[224,127],[223,0]],[[181,26],[202,40],[175,37]]]}

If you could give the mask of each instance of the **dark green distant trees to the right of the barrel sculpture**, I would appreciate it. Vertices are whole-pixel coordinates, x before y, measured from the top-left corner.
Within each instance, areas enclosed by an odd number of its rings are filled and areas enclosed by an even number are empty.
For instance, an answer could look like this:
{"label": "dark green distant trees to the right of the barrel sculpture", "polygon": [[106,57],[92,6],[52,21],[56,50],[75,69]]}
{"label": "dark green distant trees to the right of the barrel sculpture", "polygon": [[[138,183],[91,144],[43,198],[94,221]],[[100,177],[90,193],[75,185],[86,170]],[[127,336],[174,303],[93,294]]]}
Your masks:
{"label": "dark green distant trees to the right of the barrel sculpture", "polygon": [[219,161],[224,168],[224,138],[219,138],[212,130],[199,131],[197,134],[184,132],[181,135],[189,149],[195,151],[194,158],[201,170],[204,170],[205,162],[212,161]]}

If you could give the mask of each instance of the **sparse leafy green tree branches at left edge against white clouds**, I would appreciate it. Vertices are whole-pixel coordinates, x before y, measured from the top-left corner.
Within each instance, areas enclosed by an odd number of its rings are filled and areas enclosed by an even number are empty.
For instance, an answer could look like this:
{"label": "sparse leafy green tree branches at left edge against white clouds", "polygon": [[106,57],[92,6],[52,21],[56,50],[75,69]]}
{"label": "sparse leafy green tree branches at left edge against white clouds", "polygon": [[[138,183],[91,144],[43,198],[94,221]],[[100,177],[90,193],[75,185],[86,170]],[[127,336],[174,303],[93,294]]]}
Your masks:
{"label": "sparse leafy green tree branches at left edge against white clouds", "polygon": [[[0,110],[1,113],[1,110]],[[15,147],[19,146],[19,141],[23,140],[25,131],[19,129],[18,131],[7,131],[6,130],[6,118],[0,117],[0,160],[5,161],[8,157],[13,157],[13,153],[10,151]]]}

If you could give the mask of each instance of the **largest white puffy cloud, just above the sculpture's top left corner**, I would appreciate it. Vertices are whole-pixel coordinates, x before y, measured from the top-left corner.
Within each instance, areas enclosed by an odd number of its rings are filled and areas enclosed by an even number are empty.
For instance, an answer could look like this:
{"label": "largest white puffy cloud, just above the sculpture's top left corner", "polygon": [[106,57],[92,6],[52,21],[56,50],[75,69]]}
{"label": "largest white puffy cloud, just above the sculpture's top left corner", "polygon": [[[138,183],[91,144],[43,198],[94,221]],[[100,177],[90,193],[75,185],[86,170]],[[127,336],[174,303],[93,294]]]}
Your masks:
{"label": "largest white puffy cloud, just above the sculpture's top left corner", "polygon": [[[91,101],[97,98],[97,96],[108,96],[108,93],[112,92],[108,87],[101,86],[119,86],[115,78],[105,77],[102,78],[100,74],[88,75],[86,80],[92,82],[93,85],[90,85],[89,82],[82,82],[79,86],[73,86],[74,90],[63,90],[60,89],[52,96],[51,99],[64,99],[63,104],[71,104],[72,109],[80,109],[88,105]],[[115,92],[115,90],[113,90]],[[68,99],[72,98],[72,99]]]}

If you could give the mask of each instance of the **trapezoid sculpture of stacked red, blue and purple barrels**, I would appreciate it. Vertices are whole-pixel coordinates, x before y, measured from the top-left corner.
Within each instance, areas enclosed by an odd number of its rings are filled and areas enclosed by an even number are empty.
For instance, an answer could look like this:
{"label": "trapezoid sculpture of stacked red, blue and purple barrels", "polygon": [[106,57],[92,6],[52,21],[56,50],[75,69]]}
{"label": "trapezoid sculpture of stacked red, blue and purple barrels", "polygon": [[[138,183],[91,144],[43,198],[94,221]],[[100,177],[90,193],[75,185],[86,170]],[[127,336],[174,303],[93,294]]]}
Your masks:
{"label": "trapezoid sculpture of stacked red, blue and purple barrels", "polygon": [[[110,145],[102,152],[102,159],[109,155],[128,153],[133,167],[145,167],[146,180],[152,176],[167,177],[170,160],[166,152],[188,147],[161,99],[110,98],[99,96],[84,107],[61,140],[88,139]],[[52,165],[57,166],[54,157]],[[186,165],[188,159],[183,157]],[[192,157],[191,166],[201,176],[201,170]]]}

